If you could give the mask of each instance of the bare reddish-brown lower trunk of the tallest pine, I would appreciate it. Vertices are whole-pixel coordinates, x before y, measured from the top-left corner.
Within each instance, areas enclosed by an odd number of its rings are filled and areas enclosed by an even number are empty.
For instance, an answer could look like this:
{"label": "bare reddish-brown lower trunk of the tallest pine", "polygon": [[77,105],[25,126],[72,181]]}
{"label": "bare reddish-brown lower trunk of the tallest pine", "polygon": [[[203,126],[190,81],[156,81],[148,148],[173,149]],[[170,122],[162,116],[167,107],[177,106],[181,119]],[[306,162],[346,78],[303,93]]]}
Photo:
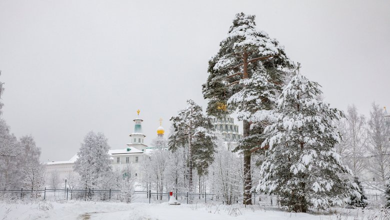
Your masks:
{"label": "bare reddish-brown lower trunk of the tallest pine", "polygon": [[[243,137],[249,135],[249,125],[247,120],[243,121]],[[252,196],[250,190],[252,188],[252,176],[250,173],[250,157],[251,153],[249,149],[243,151],[243,177],[244,177],[244,192],[243,192],[243,204],[252,204]]]}

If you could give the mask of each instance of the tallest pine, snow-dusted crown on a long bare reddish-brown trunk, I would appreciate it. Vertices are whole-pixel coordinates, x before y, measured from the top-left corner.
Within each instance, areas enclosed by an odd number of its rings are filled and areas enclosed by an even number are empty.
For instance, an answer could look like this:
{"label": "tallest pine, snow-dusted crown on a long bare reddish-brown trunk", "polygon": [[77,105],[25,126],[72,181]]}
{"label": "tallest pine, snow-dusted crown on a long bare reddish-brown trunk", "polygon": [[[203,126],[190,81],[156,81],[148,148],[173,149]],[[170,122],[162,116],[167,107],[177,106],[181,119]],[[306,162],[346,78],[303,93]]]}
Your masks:
{"label": "tallest pine, snow-dusted crown on a long bare reddish-brown trunk", "polygon": [[[268,81],[273,86],[280,87],[284,81],[284,72],[281,67],[290,65],[283,47],[277,40],[269,38],[267,33],[256,29],[254,15],[237,13],[227,36],[220,42],[218,53],[209,60],[209,76],[206,83],[202,85],[203,96],[208,99],[208,114],[223,116],[234,110],[253,113],[253,107],[256,110],[261,107],[266,108],[264,105],[255,105],[259,100],[258,97],[264,94],[261,89],[256,90],[259,90],[260,94],[248,94],[242,99],[236,96],[229,103],[228,100],[245,88],[250,82],[248,79],[253,76],[261,77],[264,71],[267,73],[264,77],[269,77]],[[262,100],[262,103],[265,102],[267,102],[266,98]],[[256,137],[262,128],[251,126],[251,121],[244,116],[241,119],[243,120],[243,139],[236,150],[242,151],[244,156],[243,203],[251,204],[250,157],[253,143],[258,142]],[[253,130],[250,129],[251,127]]]}

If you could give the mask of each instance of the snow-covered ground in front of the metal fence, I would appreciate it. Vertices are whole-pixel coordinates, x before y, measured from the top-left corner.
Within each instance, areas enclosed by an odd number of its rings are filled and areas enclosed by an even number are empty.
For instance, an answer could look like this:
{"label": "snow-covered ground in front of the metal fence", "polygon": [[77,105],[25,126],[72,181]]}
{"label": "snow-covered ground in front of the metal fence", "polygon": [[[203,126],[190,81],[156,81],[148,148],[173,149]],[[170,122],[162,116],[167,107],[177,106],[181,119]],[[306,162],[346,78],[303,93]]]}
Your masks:
{"label": "snow-covered ground in front of the metal fence", "polygon": [[[345,209],[343,209],[345,212]],[[354,209],[355,211],[355,209]],[[375,210],[371,210],[373,212]],[[369,211],[368,211],[369,212]],[[346,213],[346,212],[345,212]],[[341,218],[336,215],[289,213],[277,209],[243,207],[242,205],[182,204],[168,205],[145,203],[111,203],[71,201],[67,203],[41,201],[36,203],[0,203],[0,219],[150,219],[150,220],[191,220],[191,219],[354,219],[355,214]],[[5,218],[3,218],[5,217]],[[368,218],[356,218],[368,219]],[[378,219],[378,218],[375,218]],[[384,218],[383,218],[384,219]]]}

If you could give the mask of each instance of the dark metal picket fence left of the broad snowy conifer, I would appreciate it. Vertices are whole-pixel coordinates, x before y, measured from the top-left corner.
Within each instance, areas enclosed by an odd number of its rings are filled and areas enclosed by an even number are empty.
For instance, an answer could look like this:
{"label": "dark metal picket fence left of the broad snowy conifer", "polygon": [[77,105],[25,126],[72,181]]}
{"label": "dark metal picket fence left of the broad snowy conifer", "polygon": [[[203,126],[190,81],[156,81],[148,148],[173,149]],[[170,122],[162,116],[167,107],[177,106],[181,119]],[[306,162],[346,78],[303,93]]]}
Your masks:
{"label": "dark metal picket fence left of the broad snowy conifer", "polygon": [[[219,196],[213,193],[173,192],[173,196],[183,204],[223,202]],[[0,200],[96,200],[113,202],[141,202],[161,203],[169,200],[169,192],[134,191],[132,193],[114,189],[0,189]],[[241,202],[236,200],[236,203]],[[256,205],[277,206],[277,198],[274,196],[252,193],[252,202]]]}

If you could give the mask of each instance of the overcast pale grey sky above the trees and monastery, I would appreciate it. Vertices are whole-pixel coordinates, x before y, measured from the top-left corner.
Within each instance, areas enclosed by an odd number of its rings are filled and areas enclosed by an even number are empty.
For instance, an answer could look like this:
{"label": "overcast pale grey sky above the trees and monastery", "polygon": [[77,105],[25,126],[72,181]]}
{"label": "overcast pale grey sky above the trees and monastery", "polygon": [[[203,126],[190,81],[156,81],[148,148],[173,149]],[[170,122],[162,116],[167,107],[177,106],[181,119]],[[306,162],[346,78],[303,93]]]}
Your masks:
{"label": "overcast pale grey sky above the trees and monastery", "polygon": [[241,11],[333,107],[390,105],[389,0],[0,0],[3,117],[43,161],[69,159],[89,130],[124,148],[138,108],[149,143],[186,99],[205,107],[207,60]]}

